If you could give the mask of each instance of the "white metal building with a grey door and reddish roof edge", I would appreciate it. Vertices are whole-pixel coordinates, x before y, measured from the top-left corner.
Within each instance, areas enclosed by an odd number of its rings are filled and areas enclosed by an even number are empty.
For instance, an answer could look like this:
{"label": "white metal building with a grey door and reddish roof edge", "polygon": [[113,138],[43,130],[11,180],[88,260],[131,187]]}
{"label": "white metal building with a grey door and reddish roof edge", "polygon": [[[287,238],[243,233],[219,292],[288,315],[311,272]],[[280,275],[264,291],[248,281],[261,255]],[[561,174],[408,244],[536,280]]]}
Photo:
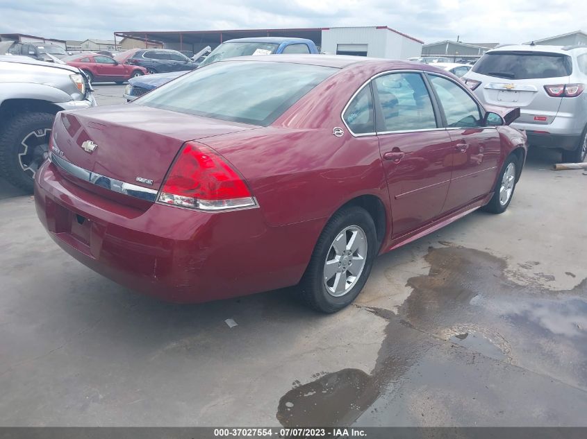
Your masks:
{"label": "white metal building with a grey door and reddish roof edge", "polygon": [[387,26],[323,28],[324,53],[407,60],[420,56],[424,42]]}

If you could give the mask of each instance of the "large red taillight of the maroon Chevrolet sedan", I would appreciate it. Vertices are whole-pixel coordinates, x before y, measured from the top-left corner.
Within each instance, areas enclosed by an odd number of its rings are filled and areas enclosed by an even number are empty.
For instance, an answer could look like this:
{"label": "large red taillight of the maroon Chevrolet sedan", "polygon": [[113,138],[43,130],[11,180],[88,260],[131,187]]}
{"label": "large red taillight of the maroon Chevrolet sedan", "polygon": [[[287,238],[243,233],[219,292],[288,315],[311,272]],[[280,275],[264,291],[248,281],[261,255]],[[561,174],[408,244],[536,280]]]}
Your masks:
{"label": "large red taillight of the maroon Chevrolet sedan", "polygon": [[202,210],[256,205],[245,181],[220,154],[192,142],[185,144],[172,164],[158,200]]}

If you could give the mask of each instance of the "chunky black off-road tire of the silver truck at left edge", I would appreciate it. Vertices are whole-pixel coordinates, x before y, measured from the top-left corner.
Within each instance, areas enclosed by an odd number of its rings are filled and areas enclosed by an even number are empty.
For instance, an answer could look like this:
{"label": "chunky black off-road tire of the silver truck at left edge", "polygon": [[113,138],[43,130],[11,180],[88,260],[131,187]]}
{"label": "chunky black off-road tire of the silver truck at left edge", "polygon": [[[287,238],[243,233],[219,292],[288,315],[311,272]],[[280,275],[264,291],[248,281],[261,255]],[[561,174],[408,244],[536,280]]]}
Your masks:
{"label": "chunky black off-road tire of the silver truck at left edge", "polygon": [[21,113],[3,125],[0,172],[10,183],[33,192],[33,178],[46,157],[54,119],[51,113]]}

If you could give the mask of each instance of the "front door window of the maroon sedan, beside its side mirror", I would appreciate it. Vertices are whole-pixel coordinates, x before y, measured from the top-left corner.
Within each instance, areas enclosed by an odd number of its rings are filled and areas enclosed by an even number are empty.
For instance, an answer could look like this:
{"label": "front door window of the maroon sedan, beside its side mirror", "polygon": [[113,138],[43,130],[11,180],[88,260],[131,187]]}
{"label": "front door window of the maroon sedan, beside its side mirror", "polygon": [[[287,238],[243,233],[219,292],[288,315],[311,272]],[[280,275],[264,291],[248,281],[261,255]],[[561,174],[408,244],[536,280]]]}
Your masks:
{"label": "front door window of the maroon sedan, beside its side mirror", "polygon": [[445,112],[448,127],[481,126],[479,105],[465,90],[452,80],[435,75],[430,75],[429,78]]}

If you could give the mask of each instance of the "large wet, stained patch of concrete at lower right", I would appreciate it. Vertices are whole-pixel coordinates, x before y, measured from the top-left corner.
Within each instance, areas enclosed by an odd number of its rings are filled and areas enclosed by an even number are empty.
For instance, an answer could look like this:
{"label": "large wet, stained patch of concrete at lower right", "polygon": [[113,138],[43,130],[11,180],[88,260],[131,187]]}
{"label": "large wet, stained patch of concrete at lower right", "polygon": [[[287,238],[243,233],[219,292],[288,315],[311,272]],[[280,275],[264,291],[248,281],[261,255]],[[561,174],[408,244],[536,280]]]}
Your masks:
{"label": "large wet, stained patch of concrete at lower right", "polygon": [[[520,286],[487,252],[429,248],[429,273],[386,320],[373,370],[296,384],[287,426],[587,425],[587,281]],[[530,372],[530,373],[528,373]]]}

